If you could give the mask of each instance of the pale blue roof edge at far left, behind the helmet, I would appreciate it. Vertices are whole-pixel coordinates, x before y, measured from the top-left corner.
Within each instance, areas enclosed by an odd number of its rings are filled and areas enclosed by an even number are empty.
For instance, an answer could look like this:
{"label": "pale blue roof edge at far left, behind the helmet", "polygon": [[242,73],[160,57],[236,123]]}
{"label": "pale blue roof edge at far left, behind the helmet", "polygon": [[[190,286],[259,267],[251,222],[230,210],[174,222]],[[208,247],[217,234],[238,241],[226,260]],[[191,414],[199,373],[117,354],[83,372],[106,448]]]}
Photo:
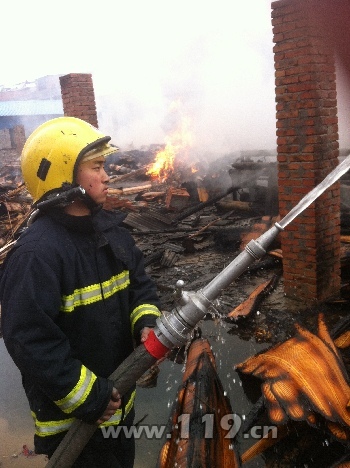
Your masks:
{"label": "pale blue roof edge at far left, behind the helmet", "polygon": [[0,101],[0,116],[63,115],[61,99],[36,99],[27,101]]}

